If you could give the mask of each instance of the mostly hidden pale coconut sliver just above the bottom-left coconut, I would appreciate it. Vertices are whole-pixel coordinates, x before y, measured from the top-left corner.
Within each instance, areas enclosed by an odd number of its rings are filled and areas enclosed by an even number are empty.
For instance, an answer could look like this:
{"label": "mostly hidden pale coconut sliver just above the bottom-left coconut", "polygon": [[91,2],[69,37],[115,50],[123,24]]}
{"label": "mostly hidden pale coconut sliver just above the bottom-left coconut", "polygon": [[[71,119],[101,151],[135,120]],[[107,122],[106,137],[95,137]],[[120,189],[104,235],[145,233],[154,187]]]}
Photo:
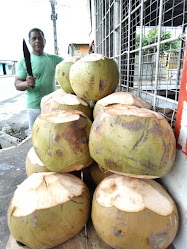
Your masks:
{"label": "mostly hidden pale coconut sliver just above the bottom-left coconut", "polygon": [[31,147],[27,153],[26,161],[25,161],[25,169],[26,169],[27,176],[30,176],[33,173],[50,171],[44,166],[44,164],[38,158],[34,150],[34,147]]}

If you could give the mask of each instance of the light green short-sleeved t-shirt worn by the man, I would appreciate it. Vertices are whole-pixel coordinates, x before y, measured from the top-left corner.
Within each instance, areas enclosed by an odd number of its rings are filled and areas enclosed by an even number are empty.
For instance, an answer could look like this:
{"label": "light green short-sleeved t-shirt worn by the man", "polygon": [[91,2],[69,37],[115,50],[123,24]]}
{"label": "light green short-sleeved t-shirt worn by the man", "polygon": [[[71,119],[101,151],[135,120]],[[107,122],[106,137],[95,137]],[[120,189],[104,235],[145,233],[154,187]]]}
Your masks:
{"label": "light green short-sleeved t-shirt worn by the man", "polygon": [[[56,90],[55,69],[61,61],[63,58],[58,55],[44,53],[37,56],[31,53],[32,71],[37,78],[35,87],[25,91],[27,108],[40,108],[41,99]],[[28,76],[24,58],[18,63],[16,76],[24,80]]]}

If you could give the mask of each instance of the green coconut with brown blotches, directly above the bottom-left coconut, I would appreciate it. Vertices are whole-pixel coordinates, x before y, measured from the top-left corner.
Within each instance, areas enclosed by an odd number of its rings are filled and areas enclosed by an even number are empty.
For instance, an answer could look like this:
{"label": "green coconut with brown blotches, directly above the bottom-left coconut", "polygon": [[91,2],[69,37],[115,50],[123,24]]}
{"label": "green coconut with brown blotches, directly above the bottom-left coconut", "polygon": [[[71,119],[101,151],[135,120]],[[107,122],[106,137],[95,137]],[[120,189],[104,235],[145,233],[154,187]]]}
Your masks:
{"label": "green coconut with brown blotches, directly above the bottom-left coconut", "polygon": [[34,122],[32,144],[46,168],[71,172],[89,166],[88,139],[92,122],[80,111],[41,114]]}

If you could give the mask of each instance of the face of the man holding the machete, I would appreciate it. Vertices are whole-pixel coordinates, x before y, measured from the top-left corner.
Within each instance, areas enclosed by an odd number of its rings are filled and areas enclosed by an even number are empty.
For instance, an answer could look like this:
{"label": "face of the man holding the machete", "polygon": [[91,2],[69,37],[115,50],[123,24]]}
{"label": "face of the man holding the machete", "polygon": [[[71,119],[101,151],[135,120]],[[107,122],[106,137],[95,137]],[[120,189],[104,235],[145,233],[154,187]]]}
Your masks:
{"label": "face of the man holding the machete", "polygon": [[42,36],[41,32],[32,32],[29,43],[33,49],[34,54],[43,53],[45,47],[45,38]]}

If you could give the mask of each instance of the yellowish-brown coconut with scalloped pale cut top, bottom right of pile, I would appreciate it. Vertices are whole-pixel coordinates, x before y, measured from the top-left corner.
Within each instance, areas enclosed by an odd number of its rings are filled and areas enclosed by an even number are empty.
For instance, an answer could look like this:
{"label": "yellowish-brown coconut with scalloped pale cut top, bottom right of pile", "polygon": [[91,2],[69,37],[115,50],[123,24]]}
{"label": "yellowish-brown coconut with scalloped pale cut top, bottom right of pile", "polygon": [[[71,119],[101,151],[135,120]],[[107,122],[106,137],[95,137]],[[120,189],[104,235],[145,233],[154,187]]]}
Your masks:
{"label": "yellowish-brown coconut with scalloped pale cut top, bottom right of pile", "polygon": [[176,205],[154,180],[113,174],[96,188],[92,221],[112,248],[165,249],[178,229]]}

